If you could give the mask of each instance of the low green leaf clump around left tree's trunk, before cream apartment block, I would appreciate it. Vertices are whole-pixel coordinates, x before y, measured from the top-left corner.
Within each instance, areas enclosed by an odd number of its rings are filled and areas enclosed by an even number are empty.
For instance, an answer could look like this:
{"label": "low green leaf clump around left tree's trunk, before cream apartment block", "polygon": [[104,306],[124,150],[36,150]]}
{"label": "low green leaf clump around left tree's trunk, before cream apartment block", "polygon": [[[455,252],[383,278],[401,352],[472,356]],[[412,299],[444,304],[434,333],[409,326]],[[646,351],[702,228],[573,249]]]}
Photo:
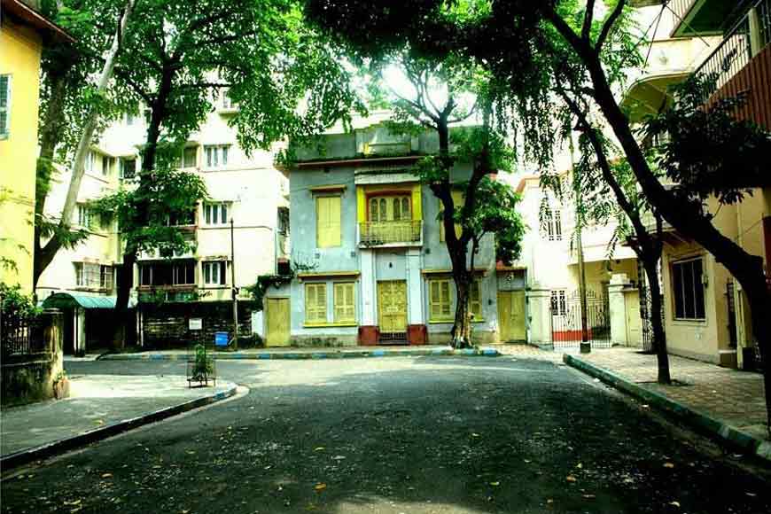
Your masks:
{"label": "low green leaf clump around left tree's trunk, before cream apartment block", "polygon": [[206,184],[199,175],[161,167],[146,186],[120,189],[90,205],[95,214],[117,219],[121,237],[137,252],[157,250],[172,257],[190,251],[195,242],[169,220],[183,218],[205,198]]}

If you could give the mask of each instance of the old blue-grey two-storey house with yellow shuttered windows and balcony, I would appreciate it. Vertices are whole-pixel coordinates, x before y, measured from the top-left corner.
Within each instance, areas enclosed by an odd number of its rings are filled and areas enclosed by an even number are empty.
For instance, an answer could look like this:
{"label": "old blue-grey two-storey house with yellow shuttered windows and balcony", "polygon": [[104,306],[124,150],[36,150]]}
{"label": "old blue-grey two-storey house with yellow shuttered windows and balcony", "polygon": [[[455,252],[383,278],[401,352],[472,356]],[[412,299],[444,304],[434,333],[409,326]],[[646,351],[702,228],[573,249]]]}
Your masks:
{"label": "old blue-grey two-storey house with yellow shuttered windows and balcony", "polygon": [[[267,292],[255,330],[269,346],[449,341],[456,293],[440,201],[411,172],[438,151],[438,137],[393,135],[379,122],[386,117],[331,129],[318,147],[298,149],[290,175],[298,272]],[[458,163],[452,180],[470,173]],[[474,263],[472,339],[481,344],[526,339],[524,270],[496,269],[494,242],[483,238]]]}

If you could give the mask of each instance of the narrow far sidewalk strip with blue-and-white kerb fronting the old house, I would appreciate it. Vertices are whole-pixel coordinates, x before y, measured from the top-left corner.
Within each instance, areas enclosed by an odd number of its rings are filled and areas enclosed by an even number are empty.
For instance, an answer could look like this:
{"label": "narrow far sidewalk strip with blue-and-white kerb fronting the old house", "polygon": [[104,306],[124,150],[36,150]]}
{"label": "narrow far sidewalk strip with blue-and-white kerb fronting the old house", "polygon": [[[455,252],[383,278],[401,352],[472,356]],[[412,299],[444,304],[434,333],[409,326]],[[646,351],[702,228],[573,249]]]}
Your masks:
{"label": "narrow far sidewalk strip with blue-and-white kerb fronting the old house", "polygon": [[[238,351],[212,352],[218,360],[261,360],[261,359],[350,359],[366,357],[417,357],[417,356],[456,356],[456,357],[497,357],[500,353],[495,348],[453,350],[448,346],[422,347],[272,347],[248,348]],[[184,361],[188,358],[186,350],[151,350],[131,354],[104,354],[100,361]]]}

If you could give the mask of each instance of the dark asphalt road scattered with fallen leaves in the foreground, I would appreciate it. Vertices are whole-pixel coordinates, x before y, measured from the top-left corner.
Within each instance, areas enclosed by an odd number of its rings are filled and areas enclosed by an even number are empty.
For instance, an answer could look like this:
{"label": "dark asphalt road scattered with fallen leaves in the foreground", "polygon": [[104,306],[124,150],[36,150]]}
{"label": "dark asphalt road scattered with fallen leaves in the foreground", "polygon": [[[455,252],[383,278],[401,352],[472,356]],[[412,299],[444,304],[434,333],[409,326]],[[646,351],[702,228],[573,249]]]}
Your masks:
{"label": "dark asphalt road scattered with fallen leaves in the foreground", "polygon": [[767,474],[551,362],[218,366],[250,392],[28,468],[2,512],[771,512]]}

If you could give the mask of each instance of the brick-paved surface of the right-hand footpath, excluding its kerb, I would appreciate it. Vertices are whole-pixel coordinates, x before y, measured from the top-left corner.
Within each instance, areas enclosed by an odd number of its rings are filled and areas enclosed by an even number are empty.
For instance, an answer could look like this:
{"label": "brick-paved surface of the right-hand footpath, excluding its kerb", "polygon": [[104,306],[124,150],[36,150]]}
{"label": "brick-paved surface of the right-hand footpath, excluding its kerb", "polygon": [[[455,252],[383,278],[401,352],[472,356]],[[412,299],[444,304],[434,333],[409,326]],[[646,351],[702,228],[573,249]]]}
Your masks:
{"label": "brick-paved surface of the right-hand footpath, excluding its kerb", "polygon": [[766,396],[759,373],[670,355],[672,378],[680,384],[659,385],[656,355],[641,354],[635,348],[612,348],[578,357],[756,438],[767,437]]}

